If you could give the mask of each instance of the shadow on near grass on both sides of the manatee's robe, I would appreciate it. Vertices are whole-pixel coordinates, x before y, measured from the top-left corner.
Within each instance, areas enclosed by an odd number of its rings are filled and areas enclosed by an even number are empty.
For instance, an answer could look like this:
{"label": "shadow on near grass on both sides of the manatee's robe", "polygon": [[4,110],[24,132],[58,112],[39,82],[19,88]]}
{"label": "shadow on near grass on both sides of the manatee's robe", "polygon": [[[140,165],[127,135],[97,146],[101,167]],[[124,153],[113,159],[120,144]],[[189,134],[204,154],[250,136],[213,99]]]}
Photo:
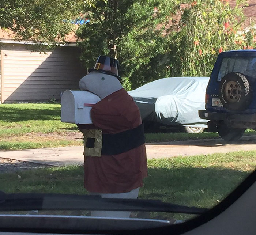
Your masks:
{"label": "shadow on near grass on both sides of the manatee's robe", "polygon": [[[149,168],[148,174],[139,198],[211,207],[235,189],[249,173],[219,167],[180,167]],[[83,189],[83,166],[49,167],[0,174],[0,188],[8,193],[86,192]]]}

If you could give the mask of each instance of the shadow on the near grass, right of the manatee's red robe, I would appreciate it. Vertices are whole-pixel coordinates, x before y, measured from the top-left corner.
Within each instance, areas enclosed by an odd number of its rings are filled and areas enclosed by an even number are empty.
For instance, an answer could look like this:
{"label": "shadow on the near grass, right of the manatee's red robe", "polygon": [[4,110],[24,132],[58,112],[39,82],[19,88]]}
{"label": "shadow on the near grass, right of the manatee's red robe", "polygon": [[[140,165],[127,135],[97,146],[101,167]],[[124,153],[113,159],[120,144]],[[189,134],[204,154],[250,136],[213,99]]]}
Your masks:
{"label": "shadow on the near grass, right of the manatee's red robe", "polygon": [[[221,167],[207,168],[151,168],[144,180],[143,198],[185,202],[190,196],[225,196],[245,179],[249,173]],[[152,190],[148,190],[152,189]],[[169,200],[168,200],[169,201]],[[183,204],[183,203],[182,203]]]}

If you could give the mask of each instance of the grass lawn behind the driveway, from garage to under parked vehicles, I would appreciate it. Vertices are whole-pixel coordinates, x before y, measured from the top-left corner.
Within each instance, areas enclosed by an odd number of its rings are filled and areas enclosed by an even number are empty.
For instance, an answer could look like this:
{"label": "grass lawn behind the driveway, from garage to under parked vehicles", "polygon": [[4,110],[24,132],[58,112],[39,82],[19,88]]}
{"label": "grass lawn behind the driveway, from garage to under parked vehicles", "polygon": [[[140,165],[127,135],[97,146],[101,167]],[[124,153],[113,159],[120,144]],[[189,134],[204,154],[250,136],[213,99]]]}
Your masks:
{"label": "grass lawn behind the driveway, from garage to under parked vehicles", "polygon": [[[0,150],[82,145],[75,124],[60,121],[60,104],[1,104]],[[245,134],[256,134],[247,131]],[[214,139],[218,133],[146,133],[147,142]]]}

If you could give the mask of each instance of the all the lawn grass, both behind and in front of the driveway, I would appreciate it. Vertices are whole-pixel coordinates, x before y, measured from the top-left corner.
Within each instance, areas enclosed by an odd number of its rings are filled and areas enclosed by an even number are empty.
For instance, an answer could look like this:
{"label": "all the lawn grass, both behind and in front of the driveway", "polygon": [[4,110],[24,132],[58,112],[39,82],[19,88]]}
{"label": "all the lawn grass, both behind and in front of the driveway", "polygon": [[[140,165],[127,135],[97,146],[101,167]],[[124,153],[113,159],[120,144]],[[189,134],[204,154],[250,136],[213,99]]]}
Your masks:
{"label": "all the lawn grass, both behind and in front of the driveway", "polygon": [[[59,104],[0,105],[0,149],[82,145],[75,124],[60,121]],[[255,134],[247,131],[246,134]],[[147,133],[147,142],[217,138],[217,133]],[[256,151],[148,160],[149,176],[139,198],[211,207],[256,167]],[[21,177],[19,178],[18,175]],[[86,194],[83,168],[49,167],[0,174],[1,190]],[[151,213],[150,217],[159,216]],[[186,219],[163,213],[161,218]]]}

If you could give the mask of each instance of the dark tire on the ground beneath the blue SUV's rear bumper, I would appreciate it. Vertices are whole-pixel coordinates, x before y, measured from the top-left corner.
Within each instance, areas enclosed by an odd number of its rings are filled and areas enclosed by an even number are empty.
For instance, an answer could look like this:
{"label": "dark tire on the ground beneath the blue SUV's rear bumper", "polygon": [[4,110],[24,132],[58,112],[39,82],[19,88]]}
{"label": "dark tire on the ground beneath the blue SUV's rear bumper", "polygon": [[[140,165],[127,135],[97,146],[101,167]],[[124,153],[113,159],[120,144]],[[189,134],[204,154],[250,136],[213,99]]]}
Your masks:
{"label": "dark tire on the ground beneath the blue SUV's rear bumper", "polygon": [[227,126],[224,122],[217,126],[219,136],[225,141],[239,140],[245,132],[245,128],[234,128]]}

